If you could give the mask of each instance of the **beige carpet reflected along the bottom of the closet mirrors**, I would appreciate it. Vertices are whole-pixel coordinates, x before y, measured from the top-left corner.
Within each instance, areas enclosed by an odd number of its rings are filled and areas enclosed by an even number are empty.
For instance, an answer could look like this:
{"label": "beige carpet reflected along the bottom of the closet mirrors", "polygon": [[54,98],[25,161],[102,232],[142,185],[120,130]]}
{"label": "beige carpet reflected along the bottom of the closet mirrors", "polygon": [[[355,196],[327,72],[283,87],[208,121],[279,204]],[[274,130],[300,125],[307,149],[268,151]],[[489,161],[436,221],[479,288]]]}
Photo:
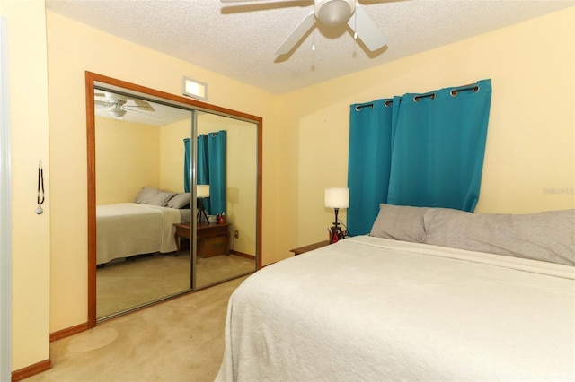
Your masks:
{"label": "beige carpet reflected along the bottom of the closet mirrors", "polygon": [[[198,257],[197,286],[234,277],[254,270],[253,260],[241,256]],[[136,256],[98,268],[96,317],[161,300],[190,289],[190,256],[153,254]]]}

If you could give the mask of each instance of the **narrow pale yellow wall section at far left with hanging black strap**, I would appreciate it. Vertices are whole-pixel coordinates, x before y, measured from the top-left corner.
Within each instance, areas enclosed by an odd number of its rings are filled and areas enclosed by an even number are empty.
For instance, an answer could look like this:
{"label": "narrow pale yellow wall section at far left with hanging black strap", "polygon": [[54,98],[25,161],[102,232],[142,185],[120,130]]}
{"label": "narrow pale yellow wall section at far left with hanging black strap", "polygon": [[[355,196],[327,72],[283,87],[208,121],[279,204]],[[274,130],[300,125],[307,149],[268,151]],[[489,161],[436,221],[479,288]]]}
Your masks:
{"label": "narrow pale yellow wall section at far left with hanging black strap", "polygon": [[[46,21],[43,1],[0,0],[0,10],[7,25],[10,87],[12,369],[15,370],[49,359],[52,190]],[[46,190],[41,215],[34,213],[39,161],[44,168]]]}

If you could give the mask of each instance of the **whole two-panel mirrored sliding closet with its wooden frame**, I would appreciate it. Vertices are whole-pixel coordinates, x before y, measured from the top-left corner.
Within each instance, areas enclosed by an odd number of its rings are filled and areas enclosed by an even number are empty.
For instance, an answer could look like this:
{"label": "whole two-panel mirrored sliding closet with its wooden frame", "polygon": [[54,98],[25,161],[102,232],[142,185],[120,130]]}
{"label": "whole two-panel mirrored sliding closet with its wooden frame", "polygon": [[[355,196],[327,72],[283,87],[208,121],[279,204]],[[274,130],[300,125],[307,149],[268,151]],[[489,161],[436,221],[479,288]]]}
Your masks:
{"label": "whole two-panel mirrored sliding closet with its wooden frame", "polygon": [[261,118],[86,73],[88,326],[254,272]]}

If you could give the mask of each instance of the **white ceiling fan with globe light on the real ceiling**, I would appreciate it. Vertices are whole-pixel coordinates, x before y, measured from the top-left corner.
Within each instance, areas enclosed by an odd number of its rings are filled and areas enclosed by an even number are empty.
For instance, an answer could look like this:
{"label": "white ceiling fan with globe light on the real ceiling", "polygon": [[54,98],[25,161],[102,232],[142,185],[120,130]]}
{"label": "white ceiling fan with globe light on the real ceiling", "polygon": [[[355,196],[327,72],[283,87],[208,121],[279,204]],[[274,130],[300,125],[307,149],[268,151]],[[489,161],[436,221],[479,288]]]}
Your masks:
{"label": "white ceiling fan with globe light on the real ceiling", "polygon": [[[222,3],[246,3],[270,0],[221,0]],[[285,0],[281,0],[285,3]],[[297,1],[301,3],[300,0]],[[377,28],[363,8],[359,7],[356,0],[307,0],[314,4],[314,10],[305,16],[294,31],[285,39],[276,50],[276,55],[288,54],[305,34],[312,30],[316,22],[328,26],[339,26],[347,23],[354,32],[354,39],[360,39],[366,47],[375,51],[387,43],[384,34]]]}

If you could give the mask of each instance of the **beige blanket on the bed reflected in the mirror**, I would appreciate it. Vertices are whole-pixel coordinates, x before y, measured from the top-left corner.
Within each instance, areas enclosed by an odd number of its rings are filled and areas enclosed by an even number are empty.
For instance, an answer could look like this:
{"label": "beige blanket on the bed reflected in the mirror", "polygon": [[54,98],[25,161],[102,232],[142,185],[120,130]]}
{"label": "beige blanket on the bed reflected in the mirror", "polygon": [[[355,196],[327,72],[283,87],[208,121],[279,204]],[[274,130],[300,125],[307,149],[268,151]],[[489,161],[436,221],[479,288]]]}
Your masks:
{"label": "beige blanket on the bed reflected in the mirror", "polygon": [[172,226],[180,211],[148,204],[96,206],[96,263],[133,255],[176,250]]}

